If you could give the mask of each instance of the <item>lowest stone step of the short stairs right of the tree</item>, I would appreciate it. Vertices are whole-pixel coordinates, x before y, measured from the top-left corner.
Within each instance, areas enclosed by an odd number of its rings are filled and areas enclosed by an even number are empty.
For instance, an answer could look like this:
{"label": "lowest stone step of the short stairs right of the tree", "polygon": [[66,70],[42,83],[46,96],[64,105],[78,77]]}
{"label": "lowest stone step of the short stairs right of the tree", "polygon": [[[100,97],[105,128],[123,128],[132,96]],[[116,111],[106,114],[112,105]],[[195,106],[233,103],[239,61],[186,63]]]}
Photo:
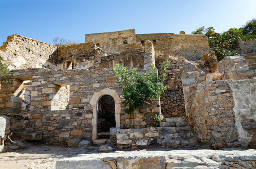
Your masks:
{"label": "lowest stone step of the short stairs right of the tree", "polygon": [[198,139],[163,139],[162,145],[165,147],[177,148],[179,146],[197,145]]}

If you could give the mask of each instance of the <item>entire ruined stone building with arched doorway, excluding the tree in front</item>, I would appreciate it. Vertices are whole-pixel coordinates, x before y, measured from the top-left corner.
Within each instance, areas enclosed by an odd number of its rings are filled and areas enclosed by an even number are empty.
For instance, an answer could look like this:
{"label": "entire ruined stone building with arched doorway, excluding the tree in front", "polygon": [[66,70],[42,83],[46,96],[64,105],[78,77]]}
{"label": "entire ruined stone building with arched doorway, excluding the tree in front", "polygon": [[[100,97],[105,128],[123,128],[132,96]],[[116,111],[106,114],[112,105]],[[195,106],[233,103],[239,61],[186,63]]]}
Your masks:
{"label": "entire ruined stone building with arched doorway, excluding the tree in front", "polygon": [[[198,141],[222,148],[256,141],[255,41],[240,41],[239,56],[218,63],[205,35],[136,34],[135,29],[86,34],[85,43],[54,46],[11,35],[0,55],[11,75],[0,77],[5,137],[46,144],[117,143],[186,146]],[[117,64],[145,72],[170,61],[154,112],[124,114]]]}

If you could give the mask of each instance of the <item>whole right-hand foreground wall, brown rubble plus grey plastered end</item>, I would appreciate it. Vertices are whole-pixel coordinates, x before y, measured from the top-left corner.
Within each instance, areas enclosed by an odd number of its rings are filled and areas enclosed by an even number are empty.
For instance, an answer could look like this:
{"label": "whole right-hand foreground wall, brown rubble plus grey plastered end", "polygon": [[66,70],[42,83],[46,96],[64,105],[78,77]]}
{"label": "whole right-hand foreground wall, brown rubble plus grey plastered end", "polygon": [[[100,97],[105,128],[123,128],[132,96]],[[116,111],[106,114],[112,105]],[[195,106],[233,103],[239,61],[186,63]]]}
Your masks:
{"label": "whole right-hand foreground wall, brown rubble plus grey plastered end", "polygon": [[211,81],[204,72],[182,78],[186,116],[198,139],[215,148],[255,144],[255,79]]}

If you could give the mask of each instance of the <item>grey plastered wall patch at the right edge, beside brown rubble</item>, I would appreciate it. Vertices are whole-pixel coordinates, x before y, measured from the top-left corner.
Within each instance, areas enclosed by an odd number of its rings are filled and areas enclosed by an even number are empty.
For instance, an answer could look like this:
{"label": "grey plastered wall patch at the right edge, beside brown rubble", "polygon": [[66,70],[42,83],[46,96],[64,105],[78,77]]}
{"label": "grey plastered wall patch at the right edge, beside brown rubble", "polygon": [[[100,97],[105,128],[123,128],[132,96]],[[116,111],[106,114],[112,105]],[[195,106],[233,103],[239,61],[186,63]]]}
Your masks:
{"label": "grey plastered wall patch at the right edge, beside brown rubble", "polygon": [[[256,79],[228,83],[233,91],[233,112],[239,141],[244,146],[256,145]],[[242,91],[242,92],[241,92]]]}

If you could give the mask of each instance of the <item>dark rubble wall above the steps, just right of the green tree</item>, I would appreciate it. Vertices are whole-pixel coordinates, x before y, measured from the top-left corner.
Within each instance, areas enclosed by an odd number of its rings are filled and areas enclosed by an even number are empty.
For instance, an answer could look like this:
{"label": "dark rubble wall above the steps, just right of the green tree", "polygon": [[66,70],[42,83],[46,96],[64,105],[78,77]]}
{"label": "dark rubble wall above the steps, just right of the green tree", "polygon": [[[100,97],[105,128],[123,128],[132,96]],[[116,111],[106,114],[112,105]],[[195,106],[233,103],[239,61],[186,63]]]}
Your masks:
{"label": "dark rubble wall above the steps, just right of the green tree", "polygon": [[184,57],[179,58],[166,55],[159,56],[156,59],[158,68],[162,65],[164,60],[169,60],[170,66],[167,68],[168,76],[166,81],[164,81],[164,85],[167,87],[167,90],[165,90],[160,97],[161,113],[164,117],[185,116],[186,112],[181,73],[198,70],[198,65],[184,59]]}

